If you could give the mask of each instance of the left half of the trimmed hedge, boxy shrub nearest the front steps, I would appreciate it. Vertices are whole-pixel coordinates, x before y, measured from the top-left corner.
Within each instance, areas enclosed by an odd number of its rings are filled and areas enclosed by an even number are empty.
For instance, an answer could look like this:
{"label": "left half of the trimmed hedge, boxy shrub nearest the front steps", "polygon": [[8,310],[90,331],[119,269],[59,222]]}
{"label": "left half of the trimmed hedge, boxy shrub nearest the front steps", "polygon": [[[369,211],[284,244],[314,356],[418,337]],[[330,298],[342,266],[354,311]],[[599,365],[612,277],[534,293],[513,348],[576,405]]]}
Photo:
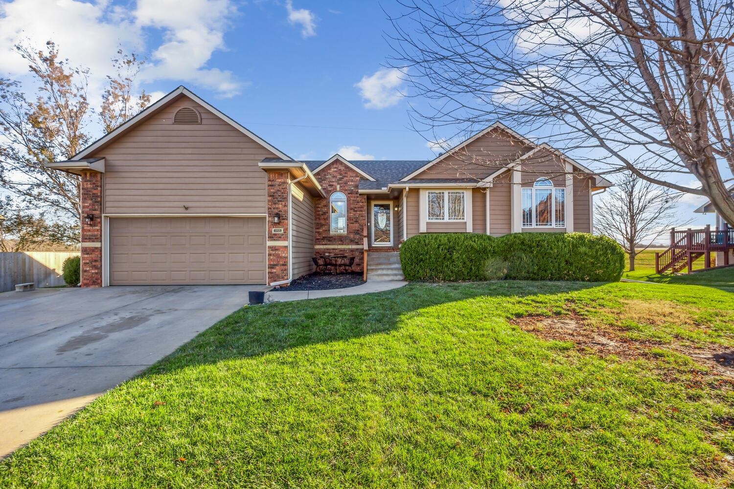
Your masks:
{"label": "left half of the trimmed hedge, boxy shrub nearest the front steps", "polygon": [[400,247],[407,280],[487,280],[493,238],[469,233],[415,235]]}

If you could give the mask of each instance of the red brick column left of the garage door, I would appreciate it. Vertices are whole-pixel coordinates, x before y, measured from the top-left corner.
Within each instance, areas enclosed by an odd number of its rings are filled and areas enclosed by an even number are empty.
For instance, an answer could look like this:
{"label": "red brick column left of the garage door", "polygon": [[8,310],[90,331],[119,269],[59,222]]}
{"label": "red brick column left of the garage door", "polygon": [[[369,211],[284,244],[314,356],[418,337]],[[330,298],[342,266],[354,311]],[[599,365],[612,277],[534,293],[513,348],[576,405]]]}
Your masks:
{"label": "red brick column left of the garage door", "polygon": [[[102,287],[102,174],[81,173],[81,287]],[[87,214],[92,221],[87,224]]]}

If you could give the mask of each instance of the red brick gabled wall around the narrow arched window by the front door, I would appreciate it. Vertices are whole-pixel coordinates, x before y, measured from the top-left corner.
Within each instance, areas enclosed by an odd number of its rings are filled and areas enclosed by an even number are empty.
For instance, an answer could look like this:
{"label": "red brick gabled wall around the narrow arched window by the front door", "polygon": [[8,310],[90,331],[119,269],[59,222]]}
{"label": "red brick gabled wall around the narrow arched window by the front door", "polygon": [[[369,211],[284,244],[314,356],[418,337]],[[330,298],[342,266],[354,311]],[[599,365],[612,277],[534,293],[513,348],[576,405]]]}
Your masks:
{"label": "red brick gabled wall around the narrow arched window by the front door", "polygon": [[[316,174],[325,199],[314,202],[314,250],[316,256],[344,254],[355,257],[354,270],[363,271],[363,232],[367,224],[367,197],[359,194],[360,174],[341,161],[334,161]],[[329,198],[336,191],[346,195],[346,235],[331,234]],[[322,248],[321,246],[333,246]]]}

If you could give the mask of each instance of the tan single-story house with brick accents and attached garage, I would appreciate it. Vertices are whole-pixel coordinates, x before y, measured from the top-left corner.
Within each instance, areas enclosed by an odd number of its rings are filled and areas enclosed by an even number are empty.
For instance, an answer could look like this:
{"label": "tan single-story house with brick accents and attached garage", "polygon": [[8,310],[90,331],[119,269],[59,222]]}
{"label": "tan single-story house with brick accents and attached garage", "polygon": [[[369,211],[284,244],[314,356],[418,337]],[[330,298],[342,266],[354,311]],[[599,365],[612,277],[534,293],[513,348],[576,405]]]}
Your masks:
{"label": "tan single-story house with brick accents and attached garage", "polygon": [[591,232],[610,183],[496,123],[433,161],[296,161],[178,87],[70,161],[84,287],[288,284],[425,232]]}

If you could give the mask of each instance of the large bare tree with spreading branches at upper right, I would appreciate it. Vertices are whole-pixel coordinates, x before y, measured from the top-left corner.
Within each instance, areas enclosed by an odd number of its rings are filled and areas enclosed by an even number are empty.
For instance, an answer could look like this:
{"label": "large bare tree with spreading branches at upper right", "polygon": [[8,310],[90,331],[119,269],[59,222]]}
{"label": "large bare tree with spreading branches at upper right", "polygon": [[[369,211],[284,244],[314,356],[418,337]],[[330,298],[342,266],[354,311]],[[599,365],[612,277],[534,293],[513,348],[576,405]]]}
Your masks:
{"label": "large bare tree with spreading branches at upper right", "polygon": [[399,4],[390,64],[432,141],[501,120],[603,174],[708,196],[734,223],[729,0]]}

